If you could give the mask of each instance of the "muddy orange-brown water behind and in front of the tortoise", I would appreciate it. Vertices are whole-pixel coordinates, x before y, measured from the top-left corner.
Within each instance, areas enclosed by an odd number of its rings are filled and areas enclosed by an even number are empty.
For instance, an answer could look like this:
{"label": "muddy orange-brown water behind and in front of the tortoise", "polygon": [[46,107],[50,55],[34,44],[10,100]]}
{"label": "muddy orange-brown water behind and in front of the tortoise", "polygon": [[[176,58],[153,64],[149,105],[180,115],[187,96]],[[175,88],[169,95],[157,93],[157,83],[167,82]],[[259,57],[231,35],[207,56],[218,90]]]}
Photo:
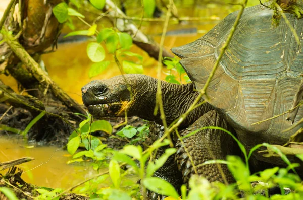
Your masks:
{"label": "muddy orange-brown water behind and in front of the tortoise", "polygon": [[[201,16],[201,13],[198,13],[198,11],[199,10],[195,9],[194,14]],[[201,11],[207,16],[215,16],[222,19],[233,10],[231,10],[230,7],[220,7],[219,9],[218,7],[208,6],[201,8]],[[190,9],[187,9],[186,12],[187,14],[183,14],[183,16],[192,16],[192,11]],[[182,15],[182,13],[180,15]],[[200,30],[200,32],[207,32],[213,28],[216,23],[218,23],[218,21],[203,23],[189,22],[182,26],[170,25],[168,29],[178,30],[195,27]],[[153,23],[144,25],[142,30],[144,33],[156,35],[154,36],[154,39],[157,42],[160,42],[160,36],[157,36],[157,33],[161,33],[162,28],[163,23]],[[203,34],[204,33],[193,33],[167,36],[165,38],[164,47],[167,50],[170,50],[172,47],[193,42]],[[108,70],[104,71],[101,75],[90,79],[88,77],[88,71],[92,62],[86,55],[86,46],[88,43],[89,41],[62,44],[58,46],[56,52],[42,55],[42,59],[52,79],[79,103],[82,103],[80,89],[83,85],[94,79],[107,79],[120,74],[113,56],[109,54],[106,56],[106,59],[111,61]],[[146,52],[134,45],[131,48],[131,51],[143,56],[144,74],[157,77],[157,61],[150,58]],[[162,70],[162,79],[165,78],[164,72],[165,70]],[[0,75],[0,79],[17,91],[17,84],[11,77]],[[34,161],[20,165],[20,168],[24,170],[22,177],[28,183],[44,187],[66,189],[96,174],[90,166],[90,163],[74,163],[67,165],[66,163],[71,157],[68,157],[68,152],[61,148],[38,146],[37,144],[34,144],[31,148],[27,148],[28,146],[32,146],[32,144],[26,144],[22,138],[12,136],[0,138],[0,162],[25,156],[35,158]]]}

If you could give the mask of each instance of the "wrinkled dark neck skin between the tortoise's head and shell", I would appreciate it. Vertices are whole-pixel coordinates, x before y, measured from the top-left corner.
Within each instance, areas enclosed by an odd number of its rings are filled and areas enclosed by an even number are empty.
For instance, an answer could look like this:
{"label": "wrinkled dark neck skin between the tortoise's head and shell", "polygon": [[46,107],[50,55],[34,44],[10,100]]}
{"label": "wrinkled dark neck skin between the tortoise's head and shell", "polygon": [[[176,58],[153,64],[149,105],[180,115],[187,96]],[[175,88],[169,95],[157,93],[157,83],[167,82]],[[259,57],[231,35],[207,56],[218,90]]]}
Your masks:
{"label": "wrinkled dark neck skin between the tortoise's head and shell", "polygon": [[[134,96],[132,107],[129,109],[128,116],[138,116],[148,121],[155,121],[163,125],[160,118],[160,112],[154,115],[156,106],[156,92],[158,79],[140,75],[142,77],[136,79],[134,85]],[[130,82],[132,80],[129,80]],[[185,113],[190,105],[194,102],[199,93],[194,90],[192,83],[189,84],[172,84],[161,81],[162,102],[166,116],[166,122],[170,125],[174,120]],[[199,103],[203,102],[203,99]],[[180,127],[187,127],[196,121],[204,113],[212,110],[212,106],[204,103],[198,108],[191,111]]]}

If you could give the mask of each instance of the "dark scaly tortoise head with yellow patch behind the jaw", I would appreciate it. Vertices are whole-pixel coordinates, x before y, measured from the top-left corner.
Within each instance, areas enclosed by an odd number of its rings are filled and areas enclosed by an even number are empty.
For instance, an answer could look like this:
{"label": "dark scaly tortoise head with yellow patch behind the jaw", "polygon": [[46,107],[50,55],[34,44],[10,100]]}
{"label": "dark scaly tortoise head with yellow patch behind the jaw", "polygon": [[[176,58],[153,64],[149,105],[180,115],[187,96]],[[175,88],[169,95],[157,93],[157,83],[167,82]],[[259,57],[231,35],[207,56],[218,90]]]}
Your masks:
{"label": "dark scaly tortoise head with yellow patch behind the jaw", "polygon": [[116,76],[94,80],[82,87],[82,101],[89,113],[97,118],[124,116],[132,104],[134,80]]}

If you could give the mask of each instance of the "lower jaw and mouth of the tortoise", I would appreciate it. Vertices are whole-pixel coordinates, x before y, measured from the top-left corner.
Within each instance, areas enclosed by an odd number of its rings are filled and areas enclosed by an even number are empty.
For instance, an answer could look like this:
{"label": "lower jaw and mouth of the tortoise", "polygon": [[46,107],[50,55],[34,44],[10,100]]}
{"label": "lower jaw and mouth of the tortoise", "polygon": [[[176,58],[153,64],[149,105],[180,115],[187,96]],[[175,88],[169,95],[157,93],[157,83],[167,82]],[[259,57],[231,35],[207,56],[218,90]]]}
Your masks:
{"label": "lower jaw and mouth of the tortoise", "polygon": [[96,118],[114,117],[121,108],[119,103],[91,104],[87,107],[88,112]]}

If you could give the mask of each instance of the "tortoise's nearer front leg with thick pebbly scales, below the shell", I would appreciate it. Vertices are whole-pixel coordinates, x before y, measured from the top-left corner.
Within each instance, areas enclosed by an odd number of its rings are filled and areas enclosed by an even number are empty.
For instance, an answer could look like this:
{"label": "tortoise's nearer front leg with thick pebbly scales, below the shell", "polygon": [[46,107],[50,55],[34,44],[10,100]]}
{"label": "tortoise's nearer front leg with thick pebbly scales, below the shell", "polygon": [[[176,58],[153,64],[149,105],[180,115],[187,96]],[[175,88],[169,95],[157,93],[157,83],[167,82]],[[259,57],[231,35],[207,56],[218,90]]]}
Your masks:
{"label": "tortoise's nearer front leg with thick pebbly scales, below the shell", "polygon": [[[225,120],[215,111],[209,111],[201,116],[188,128],[180,131],[180,136],[185,136],[204,126],[218,126],[233,131],[227,125]],[[176,142],[177,152],[175,161],[178,169],[182,172],[184,183],[192,174],[195,174],[194,166],[204,163],[207,160],[226,159],[227,154],[238,154],[238,148],[235,141],[226,132],[217,129],[205,129],[196,132],[196,134],[183,139],[184,144],[178,139]],[[184,145],[189,152],[193,162],[184,149]],[[218,168],[218,165],[219,168]],[[231,172],[226,165],[210,164],[196,167],[198,175],[205,177],[207,180],[220,182],[235,182]]]}

